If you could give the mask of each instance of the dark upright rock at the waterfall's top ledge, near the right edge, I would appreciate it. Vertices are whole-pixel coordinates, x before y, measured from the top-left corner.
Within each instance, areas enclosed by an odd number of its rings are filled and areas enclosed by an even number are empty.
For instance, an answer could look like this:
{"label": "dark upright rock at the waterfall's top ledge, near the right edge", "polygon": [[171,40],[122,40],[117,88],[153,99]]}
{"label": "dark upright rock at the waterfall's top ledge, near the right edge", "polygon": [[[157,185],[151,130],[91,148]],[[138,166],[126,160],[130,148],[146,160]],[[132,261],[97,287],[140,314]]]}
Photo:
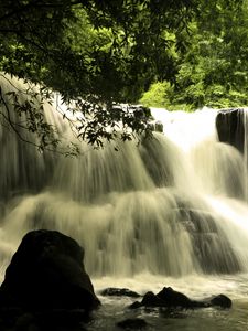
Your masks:
{"label": "dark upright rock at the waterfall's top ledge, near the right edge", "polygon": [[236,147],[241,153],[245,146],[245,111],[242,108],[219,110],[216,129],[219,141]]}

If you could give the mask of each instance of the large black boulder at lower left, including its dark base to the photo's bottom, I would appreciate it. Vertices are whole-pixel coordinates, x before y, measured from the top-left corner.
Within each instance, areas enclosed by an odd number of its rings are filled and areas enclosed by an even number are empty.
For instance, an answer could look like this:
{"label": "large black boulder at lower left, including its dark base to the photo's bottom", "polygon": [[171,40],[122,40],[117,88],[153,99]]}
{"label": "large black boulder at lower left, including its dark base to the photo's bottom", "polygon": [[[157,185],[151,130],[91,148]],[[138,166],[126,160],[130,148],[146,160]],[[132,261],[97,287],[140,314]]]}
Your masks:
{"label": "large black boulder at lower left, including its dark base to the photo's bottom", "polygon": [[83,259],[84,249],[60,232],[28,233],[0,287],[1,330],[8,330],[9,325],[13,330],[29,330],[32,325],[48,330],[51,321],[53,330],[64,330],[65,325],[71,330],[75,322],[87,321],[100,301]]}

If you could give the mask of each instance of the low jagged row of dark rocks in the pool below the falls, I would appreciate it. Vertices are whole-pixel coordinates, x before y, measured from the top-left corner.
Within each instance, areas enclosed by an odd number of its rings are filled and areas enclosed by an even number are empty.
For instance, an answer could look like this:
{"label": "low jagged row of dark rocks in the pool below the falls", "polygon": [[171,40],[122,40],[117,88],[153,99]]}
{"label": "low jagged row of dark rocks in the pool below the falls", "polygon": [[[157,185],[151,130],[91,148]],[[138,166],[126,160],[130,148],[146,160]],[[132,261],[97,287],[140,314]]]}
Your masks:
{"label": "low jagged row of dark rocks in the pool below the falls", "polygon": [[231,300],[224,296],[218,295],[202,301],[192,300],[184,293],[173,290],[171,287],[164,287],[158,295],[149,291],[143,296],[141,302],[133,302],[129,308],[136,309],[140,307],[164,307],[164,308],[181,308],[181,309],[194,309],[194,308],[207,308],[207,307],[220,307],[230,308]]}

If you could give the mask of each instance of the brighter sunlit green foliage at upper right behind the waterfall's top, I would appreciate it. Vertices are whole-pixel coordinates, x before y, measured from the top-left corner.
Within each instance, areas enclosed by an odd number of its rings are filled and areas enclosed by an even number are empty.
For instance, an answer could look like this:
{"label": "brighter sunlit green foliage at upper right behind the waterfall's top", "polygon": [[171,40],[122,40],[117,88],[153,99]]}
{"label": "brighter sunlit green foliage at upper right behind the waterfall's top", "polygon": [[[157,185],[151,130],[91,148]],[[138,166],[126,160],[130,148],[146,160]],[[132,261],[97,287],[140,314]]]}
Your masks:
{"label": "brighter sunlit green foliage at upper right behind the waterfall's top", "polygon": [[[248,105],[248,1],[198,1],[198,13],[177,52],[174,84],[160,106],[169,109]],[[161,83],[159,83],[161,84]],[[153,102],[154,85],[141,100]],[[162,95],[162,90],[160,90]],[[151,105],[151,103],[149,104]]]}

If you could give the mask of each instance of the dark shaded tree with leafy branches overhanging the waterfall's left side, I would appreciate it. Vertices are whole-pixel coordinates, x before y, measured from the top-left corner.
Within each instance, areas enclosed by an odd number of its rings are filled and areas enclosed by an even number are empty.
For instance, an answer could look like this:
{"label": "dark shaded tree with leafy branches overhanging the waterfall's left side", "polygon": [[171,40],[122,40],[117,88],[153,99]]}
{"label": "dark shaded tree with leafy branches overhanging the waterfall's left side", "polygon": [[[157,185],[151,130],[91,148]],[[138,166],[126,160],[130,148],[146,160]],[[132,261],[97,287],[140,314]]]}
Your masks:
{"label": "dark shaded tree with leafy branches overhanging the waterfall's left side", "polygon": [[129,128],[133,132],[148,128],[147,116],[114,109],[112,104],[138,100],[155,79],[174,79],[170,47],[174,43],[183,47],[182,35],[197,4],[195,0],[2,0],[0,68],[60,92],[64,102],[73,99],[83,113],[78,137],[100,145],[101,138],[112,139],[115,124],[121,121],[122,138],[130,139]]}

